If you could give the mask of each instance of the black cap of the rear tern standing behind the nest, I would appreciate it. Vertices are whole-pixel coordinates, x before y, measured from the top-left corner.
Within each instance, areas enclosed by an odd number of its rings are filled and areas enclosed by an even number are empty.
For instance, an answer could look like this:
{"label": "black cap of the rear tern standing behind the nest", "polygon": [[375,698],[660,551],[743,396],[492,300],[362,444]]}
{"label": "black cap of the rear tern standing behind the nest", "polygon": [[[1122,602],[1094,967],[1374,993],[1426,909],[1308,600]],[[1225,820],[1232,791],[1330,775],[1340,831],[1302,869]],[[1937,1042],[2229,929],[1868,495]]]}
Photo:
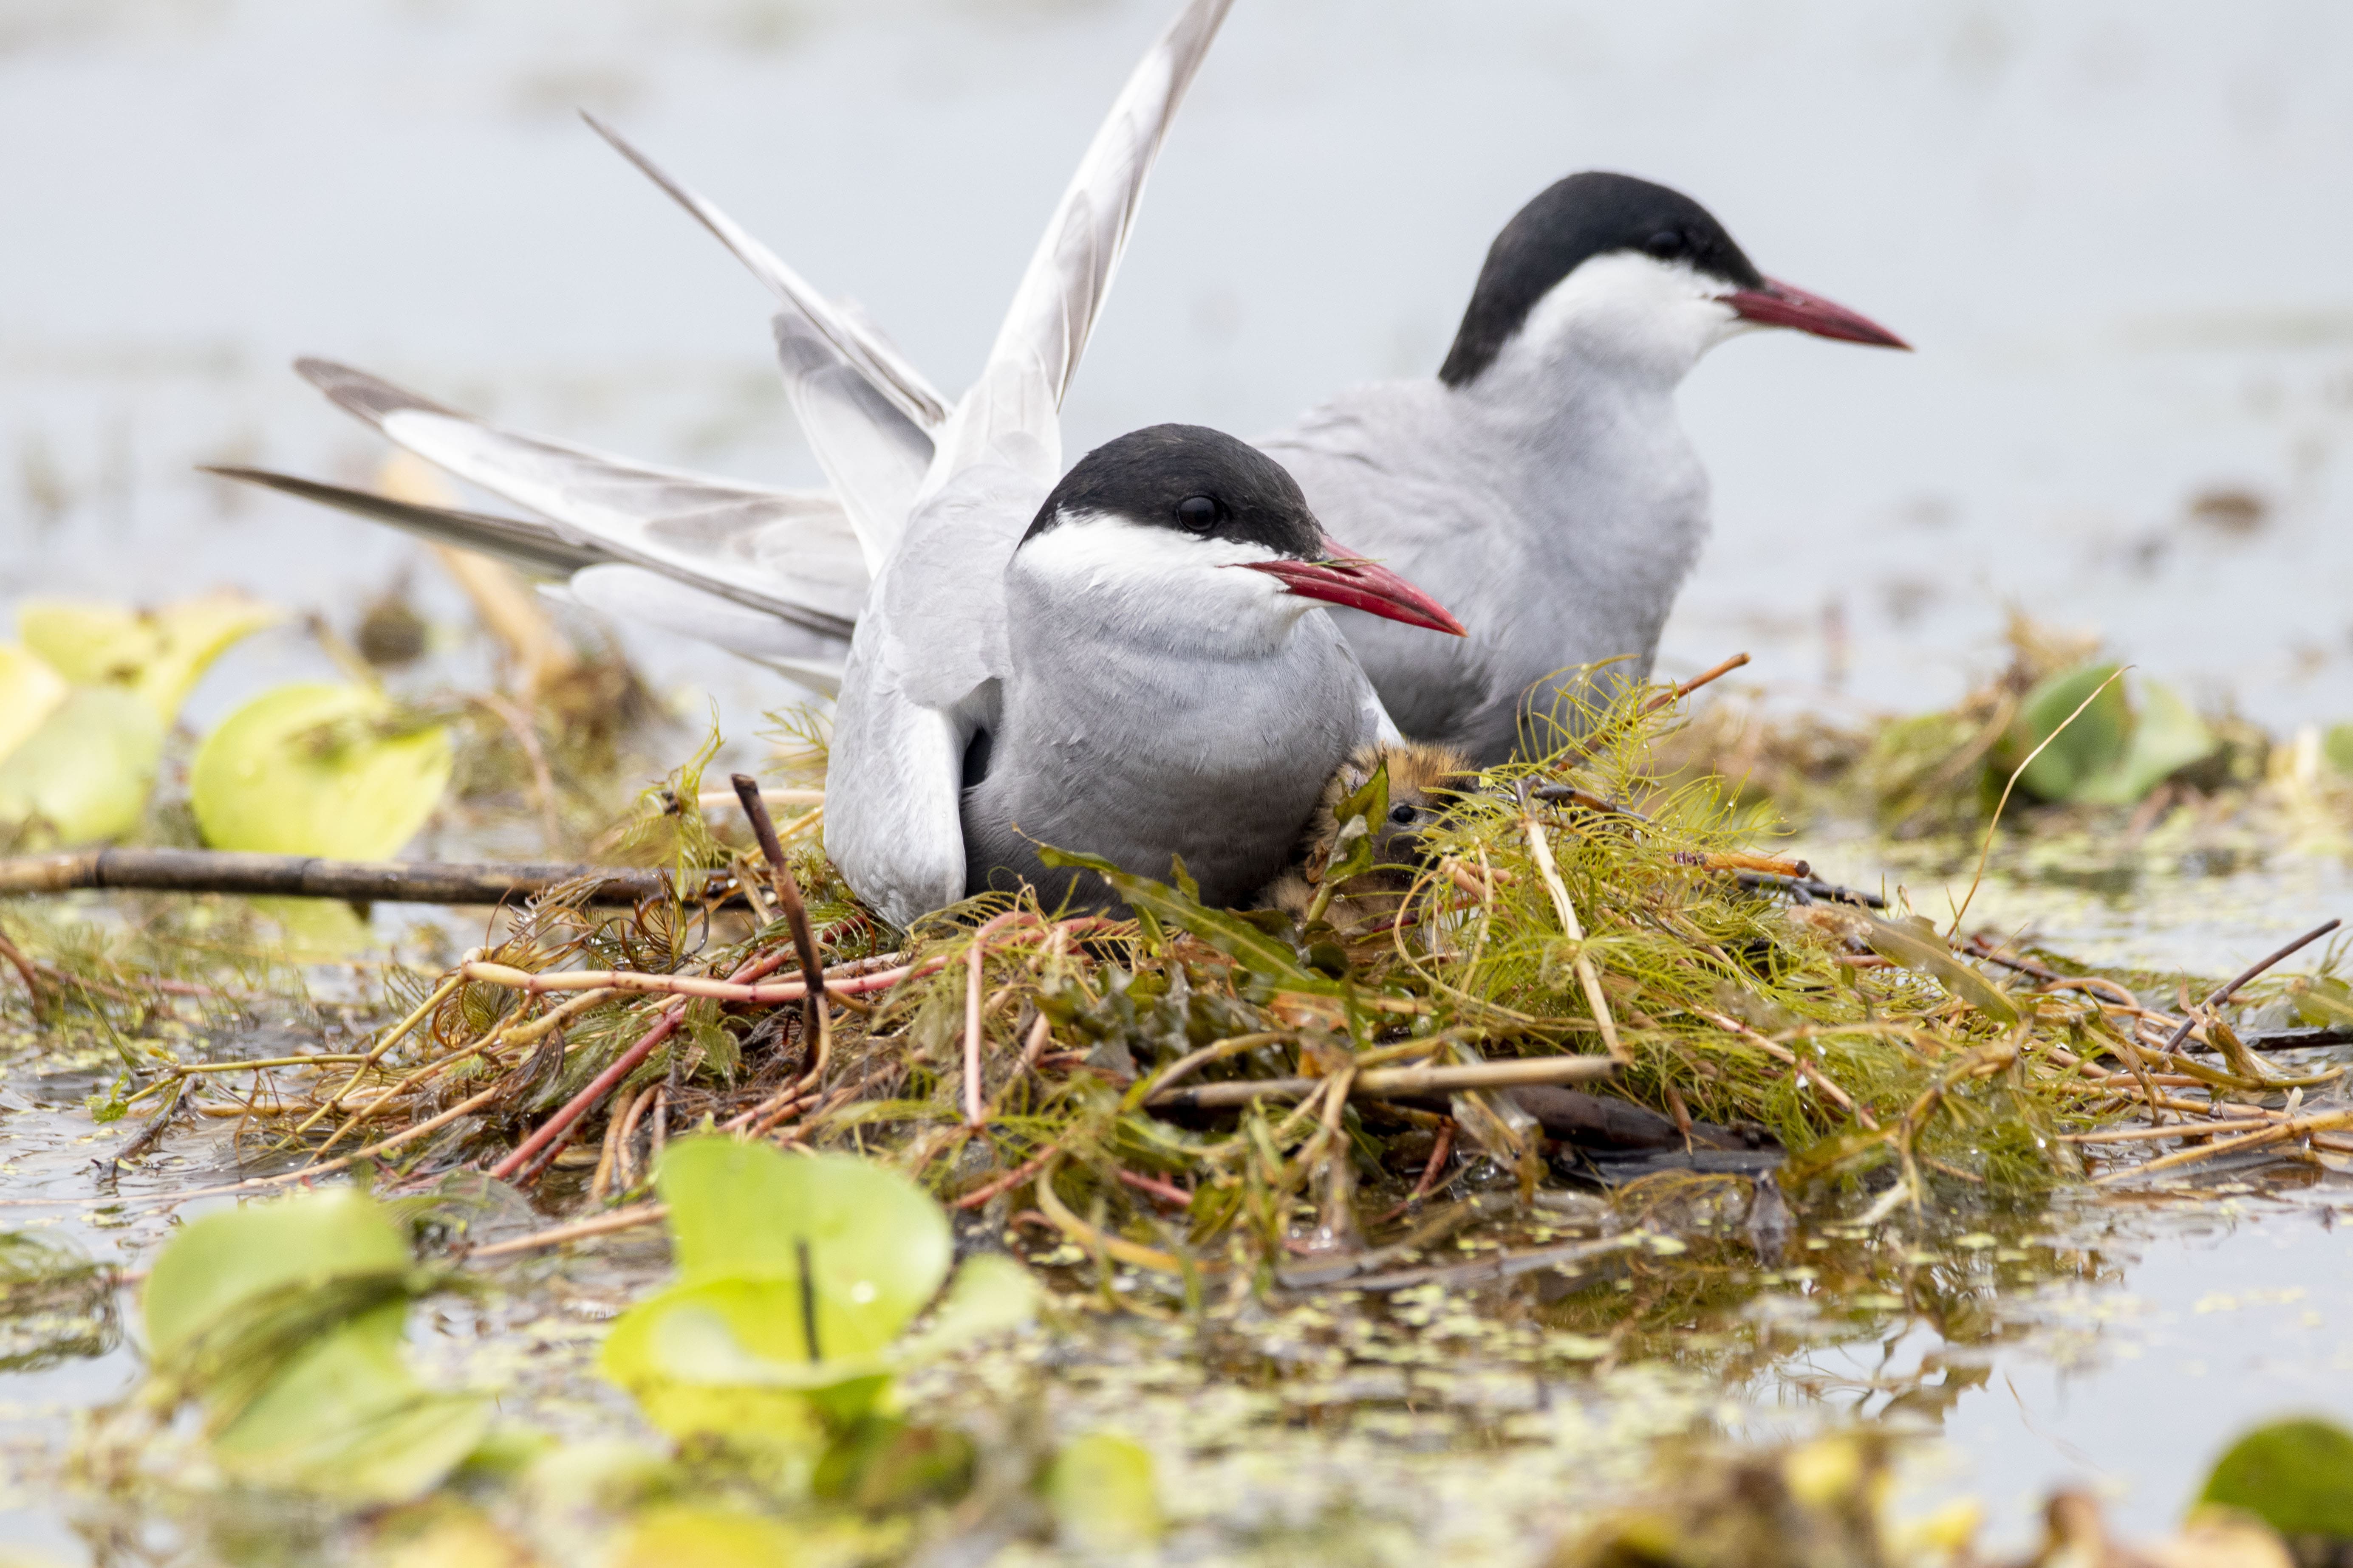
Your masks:
{"label": "black cap of the rear tern standing behind the nest", "polygon": [[1487,247],[1438,378],[1447,386],[1478,378],[1555,282],[1609,252],[1687,261],[1741,289],[1765,282],[1725,226],[1680,190],[1631,174],[1572,174],[1513,214]]}

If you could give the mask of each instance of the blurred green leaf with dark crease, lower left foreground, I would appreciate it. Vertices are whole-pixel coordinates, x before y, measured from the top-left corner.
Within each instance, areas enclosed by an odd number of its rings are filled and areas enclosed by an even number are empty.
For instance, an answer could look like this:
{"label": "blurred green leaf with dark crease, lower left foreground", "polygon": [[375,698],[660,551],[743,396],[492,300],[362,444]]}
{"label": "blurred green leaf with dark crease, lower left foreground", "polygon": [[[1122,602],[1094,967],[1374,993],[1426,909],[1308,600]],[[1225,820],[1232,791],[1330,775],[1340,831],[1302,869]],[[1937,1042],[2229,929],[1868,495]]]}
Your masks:
{"label": "blurred green leaf with dark crease, lower left foreground", "polygon": [[400,1354],[407,1272],[400,1229],[351,1190],[212,1213],[165,1246],[148,1347],[205,1401],[228,1474],[398,1502],[473,1450],[489,1401],[424,1389]]}

